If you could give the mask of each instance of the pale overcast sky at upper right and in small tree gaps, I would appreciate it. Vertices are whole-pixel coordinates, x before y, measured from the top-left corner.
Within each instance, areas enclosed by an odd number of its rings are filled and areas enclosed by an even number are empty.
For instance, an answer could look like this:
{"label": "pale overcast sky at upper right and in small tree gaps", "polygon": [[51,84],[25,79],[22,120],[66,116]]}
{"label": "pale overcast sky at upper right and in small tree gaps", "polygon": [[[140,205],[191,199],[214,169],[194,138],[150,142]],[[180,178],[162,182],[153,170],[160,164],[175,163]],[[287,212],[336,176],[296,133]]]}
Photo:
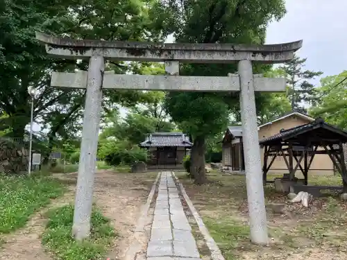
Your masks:
{"label": "pale overcast sky at upper right and in small tree gaps", "polygon": [[[332,76],[347,69],[347,1],[287,0],[287,14],[269,24],[266,44],[303,40],[298,51],[306,69]],[[172,37],[168,42],[172,42]],[[312,83],[319,85],[319,78]],[[126,110],[121,109],[124,116]],[[34,131],[40,131],[35,124]]]}

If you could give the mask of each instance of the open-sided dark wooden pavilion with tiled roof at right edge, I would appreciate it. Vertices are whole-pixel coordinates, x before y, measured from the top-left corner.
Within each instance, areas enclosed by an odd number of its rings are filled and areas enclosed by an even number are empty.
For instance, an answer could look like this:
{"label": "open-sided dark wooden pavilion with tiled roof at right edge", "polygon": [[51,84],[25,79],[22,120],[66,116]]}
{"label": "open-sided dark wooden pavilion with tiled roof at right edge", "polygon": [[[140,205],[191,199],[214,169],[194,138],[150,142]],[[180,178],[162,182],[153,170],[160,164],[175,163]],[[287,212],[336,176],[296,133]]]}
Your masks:
{"label": "open-sided dark wooden pavilion with tiled roof at right edge", "polygon": [[[312,123],[295,128],[281,130],[277,135],[260,141],[264,147],[263,180],[276,157],[283,157],[289,171],[289,181],[294,181],[298,169],[303,173],[307,186],[307,173],[314,155],[328,155],[344,183],[347,192],[347,169],[344,155],[344,144],[347,143],[347,132],[325,123],[319,118]],[[294,162],[295,161],[295,162]],[[327,188],[328,189],[328,188]]]}

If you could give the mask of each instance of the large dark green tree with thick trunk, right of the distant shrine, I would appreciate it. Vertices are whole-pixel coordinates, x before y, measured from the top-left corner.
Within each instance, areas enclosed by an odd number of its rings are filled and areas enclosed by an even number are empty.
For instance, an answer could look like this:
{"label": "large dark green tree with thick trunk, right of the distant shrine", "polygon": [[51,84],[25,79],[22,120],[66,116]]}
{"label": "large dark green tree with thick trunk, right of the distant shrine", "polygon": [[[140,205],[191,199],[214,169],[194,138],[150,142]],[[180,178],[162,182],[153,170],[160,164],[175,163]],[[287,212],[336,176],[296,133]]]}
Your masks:
{"label": "large dark green tree with thick trunk, right of the distant shrine", "polygon": [[[282,0],[198,0],[161,1],[153,8],[153,20],[164,33],[174,33],[176,42],[264,43],[266,25],[285,14]],[[255,73],[264,67],[255,66]],[[235,64],[187,64],[180,74],[226,76],[237,70]],[[191,172],[196,184],[205,182],[205,139],[225,129],[230,110],[237,111],[238,95],[213,93],[170,93],[166,109],[174,121],[192,136]]]}

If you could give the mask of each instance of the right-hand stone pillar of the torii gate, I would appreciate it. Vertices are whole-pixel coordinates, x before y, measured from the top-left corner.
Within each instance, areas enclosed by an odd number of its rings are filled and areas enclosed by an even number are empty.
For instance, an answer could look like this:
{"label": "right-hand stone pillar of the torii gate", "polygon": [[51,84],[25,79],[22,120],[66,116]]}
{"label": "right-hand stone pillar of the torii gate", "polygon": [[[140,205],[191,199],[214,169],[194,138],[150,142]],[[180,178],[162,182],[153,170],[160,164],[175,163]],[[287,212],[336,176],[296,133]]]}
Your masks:
{"label": "right-hand stone pillar of the torii gate", "polygon": [[240,60],[238,70],[241,85],[242,140],[251,241],[266,244],[268,234],[251,60]]}

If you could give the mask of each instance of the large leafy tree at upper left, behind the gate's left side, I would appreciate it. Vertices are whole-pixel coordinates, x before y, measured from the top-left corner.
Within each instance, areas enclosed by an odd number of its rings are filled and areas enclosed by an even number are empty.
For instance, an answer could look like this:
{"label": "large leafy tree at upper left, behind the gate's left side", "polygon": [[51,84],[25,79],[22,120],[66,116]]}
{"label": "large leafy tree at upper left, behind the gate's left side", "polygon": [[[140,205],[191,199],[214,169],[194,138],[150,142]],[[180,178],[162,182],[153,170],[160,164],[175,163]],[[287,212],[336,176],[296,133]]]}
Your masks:
{"label": "large leafy tree at upper left, behind the gate's left side", "polygon": [[[85,91],[54,89],[49,73],[87,70],[88,62],[50,59],[35,40],[35,31],[78,39],[156,40],[149,8],[149,1],[5,1],[0,9],[0,112],[8,116],[1,118],[1,129],[10,129],[11,137],[23,137],[30,121],[29,86],[38,90],[34,119],[49,130],[50,148],[55,139],[78,132],[81,124]],[[115,73],[129,69],[124,62],[110,62],[107,68]],[[142,97],[134,91],[105,92],[103,108],[135,105]]]}

